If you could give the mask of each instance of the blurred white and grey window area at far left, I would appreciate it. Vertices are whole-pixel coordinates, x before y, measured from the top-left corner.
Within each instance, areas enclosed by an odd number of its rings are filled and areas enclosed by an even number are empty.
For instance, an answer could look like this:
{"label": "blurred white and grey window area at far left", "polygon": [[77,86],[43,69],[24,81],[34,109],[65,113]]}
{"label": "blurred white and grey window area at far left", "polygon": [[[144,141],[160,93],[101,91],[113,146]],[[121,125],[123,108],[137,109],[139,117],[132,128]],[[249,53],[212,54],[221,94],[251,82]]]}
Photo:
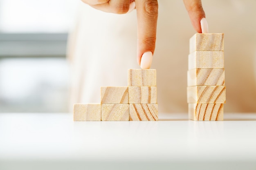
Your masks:
{"label": "blurred white and grey window area at far left", "polygon": [[67,112],[78,0],[0,0],[0,112]]}

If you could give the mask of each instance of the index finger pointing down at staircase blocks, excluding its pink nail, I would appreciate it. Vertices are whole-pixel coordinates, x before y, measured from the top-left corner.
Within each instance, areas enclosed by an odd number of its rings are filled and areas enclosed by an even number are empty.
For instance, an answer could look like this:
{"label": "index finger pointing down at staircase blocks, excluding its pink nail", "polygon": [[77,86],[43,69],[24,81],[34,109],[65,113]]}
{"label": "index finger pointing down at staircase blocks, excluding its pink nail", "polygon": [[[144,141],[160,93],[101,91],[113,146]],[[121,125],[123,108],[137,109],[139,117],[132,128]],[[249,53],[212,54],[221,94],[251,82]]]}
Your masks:
{"label": "index finger pointing down at staircase blocks, excluding its pink nail", "polygon": [[[135,0],[137,10],[137,62],[145,52],[155,51],[158,2],[157,0]],[[151,64],[151,63],[150,63]],[[150,66],[149,66],[150,67]]]}

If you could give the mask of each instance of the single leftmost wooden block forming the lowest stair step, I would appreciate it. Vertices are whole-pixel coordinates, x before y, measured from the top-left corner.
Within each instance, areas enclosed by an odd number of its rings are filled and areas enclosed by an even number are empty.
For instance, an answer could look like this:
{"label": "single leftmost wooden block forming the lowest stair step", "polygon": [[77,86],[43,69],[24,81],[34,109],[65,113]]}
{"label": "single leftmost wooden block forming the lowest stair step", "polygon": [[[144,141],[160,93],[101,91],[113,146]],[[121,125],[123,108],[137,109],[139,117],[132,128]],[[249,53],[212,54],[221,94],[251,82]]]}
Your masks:
{"label": "single leftmost wooden block forming the lowest stair step", "polygon": [[101,104],[74,104],[74,121],[101,121]]}

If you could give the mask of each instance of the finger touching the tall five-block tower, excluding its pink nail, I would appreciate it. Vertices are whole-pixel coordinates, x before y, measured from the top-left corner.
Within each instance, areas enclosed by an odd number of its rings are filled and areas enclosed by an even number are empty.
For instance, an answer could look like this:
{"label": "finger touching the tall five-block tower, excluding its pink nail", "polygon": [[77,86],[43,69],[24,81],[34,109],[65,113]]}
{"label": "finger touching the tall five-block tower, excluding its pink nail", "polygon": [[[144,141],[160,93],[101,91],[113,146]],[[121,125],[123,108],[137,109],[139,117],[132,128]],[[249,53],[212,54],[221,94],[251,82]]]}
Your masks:
{"label": "finger touching the tall five-block tower, excluding its pink nail", "polygon": [[183,0],[183,2],[195,31],[202,33],[200,21],[205,18],[205,13],[201,0]]}

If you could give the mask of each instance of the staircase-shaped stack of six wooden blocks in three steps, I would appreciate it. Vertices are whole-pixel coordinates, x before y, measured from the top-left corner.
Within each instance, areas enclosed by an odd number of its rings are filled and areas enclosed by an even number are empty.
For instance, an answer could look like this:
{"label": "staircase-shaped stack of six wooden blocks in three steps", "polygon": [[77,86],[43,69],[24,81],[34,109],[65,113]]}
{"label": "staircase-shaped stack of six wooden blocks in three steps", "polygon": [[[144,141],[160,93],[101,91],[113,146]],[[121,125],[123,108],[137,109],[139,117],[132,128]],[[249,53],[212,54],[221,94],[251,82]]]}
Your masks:
{"label": "staircase-shaped stack of six wooden blocks in three steps", "polygon": [[128,86],[101,87],[100,104],[74,104],[74,121],[157,121],[155,69],[129,69]]}

